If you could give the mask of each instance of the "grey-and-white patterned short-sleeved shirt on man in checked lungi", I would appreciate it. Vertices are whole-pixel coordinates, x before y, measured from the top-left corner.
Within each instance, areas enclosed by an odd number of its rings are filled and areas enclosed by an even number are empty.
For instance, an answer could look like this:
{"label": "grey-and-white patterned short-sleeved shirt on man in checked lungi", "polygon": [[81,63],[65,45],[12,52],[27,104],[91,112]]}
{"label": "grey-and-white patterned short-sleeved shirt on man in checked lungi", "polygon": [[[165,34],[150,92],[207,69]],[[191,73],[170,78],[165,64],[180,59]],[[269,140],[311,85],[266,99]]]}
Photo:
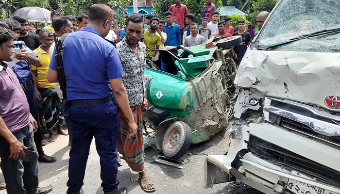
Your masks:
{"label": "grey-and-white patterned short-sleeved shirt on man in checked lungi", "polygon": [[142,105],[145,95],[144,71],[146,69],[146,46],[138,42],[138,54],[126,43],[126,38],[117,44],[117,51],[125,76],[123,84],[129,97],[130,106]]}

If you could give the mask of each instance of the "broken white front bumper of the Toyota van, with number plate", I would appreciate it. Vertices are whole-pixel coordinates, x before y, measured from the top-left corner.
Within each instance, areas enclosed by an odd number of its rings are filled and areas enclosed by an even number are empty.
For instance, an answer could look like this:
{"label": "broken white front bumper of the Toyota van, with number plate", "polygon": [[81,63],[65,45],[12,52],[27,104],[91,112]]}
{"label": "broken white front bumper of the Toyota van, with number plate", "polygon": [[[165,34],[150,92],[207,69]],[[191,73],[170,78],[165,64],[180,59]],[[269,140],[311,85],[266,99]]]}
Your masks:
{"label": "broken white front bumper of the Toyota van, with number plate", "polygon": [[268,123],[242,125],[236,133],[226,156],[206,157],[205,188],[238,178],[266,194],[340,194],[336,147]]}

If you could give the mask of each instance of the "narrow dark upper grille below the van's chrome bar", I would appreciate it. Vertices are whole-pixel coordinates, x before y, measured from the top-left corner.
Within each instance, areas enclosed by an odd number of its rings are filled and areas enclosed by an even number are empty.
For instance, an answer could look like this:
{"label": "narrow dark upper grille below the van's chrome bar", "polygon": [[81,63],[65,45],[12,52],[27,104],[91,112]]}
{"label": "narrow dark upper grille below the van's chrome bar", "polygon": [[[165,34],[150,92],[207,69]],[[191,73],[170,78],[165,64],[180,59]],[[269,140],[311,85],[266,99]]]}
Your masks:
{"label": "narrow dark upper grille below the van's chrome bar", "polygon": [[325,140],[327,142],[334,143],[340,146],[340,136],[327,136],[327,135],[317,133],[313,129],[311,129],[309,126],[299,123],[297,121],[291,120],[289,118],[282,117],[280,126],[286,129],[301,131],[313,137],[321,138],[322,140]]}

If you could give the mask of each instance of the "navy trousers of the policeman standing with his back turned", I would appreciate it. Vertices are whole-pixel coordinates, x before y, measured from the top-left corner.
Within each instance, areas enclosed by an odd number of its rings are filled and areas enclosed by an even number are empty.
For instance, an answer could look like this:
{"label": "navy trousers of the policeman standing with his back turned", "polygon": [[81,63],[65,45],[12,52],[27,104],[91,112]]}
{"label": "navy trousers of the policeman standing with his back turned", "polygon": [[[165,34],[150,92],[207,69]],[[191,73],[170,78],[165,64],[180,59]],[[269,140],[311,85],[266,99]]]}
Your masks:
{"label": "navy trousers of the policeman standing with his back turned", "polygon": [[102,105],[69,106],[65,104],[65,116],[72,129],[72,147],[69,152],[68,191],[78,194],[84,185],[88,152],[93,137],[101,162],[101,179],[104,192],[115,190],[117,180],[117,138],[119,133],[118,110],[114,102]]}

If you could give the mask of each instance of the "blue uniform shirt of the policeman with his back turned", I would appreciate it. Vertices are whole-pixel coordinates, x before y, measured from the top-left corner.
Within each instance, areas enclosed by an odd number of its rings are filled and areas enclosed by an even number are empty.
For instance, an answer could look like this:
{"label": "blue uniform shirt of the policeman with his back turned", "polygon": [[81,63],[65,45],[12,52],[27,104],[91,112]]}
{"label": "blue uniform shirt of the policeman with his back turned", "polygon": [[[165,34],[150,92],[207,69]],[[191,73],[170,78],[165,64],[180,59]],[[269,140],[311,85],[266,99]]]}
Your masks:
{"label": "blue uniform shirt of the policeman with his back turned", "polygon": [[[68,99],[100,99],[112,95],[109,80],[124,76],[116,44],[104,39],[97,30],[83,27],[68,34],[63,46],[67,47],[63,49],[63,59]],[[57,70],[55,57],[49,67]]]}

